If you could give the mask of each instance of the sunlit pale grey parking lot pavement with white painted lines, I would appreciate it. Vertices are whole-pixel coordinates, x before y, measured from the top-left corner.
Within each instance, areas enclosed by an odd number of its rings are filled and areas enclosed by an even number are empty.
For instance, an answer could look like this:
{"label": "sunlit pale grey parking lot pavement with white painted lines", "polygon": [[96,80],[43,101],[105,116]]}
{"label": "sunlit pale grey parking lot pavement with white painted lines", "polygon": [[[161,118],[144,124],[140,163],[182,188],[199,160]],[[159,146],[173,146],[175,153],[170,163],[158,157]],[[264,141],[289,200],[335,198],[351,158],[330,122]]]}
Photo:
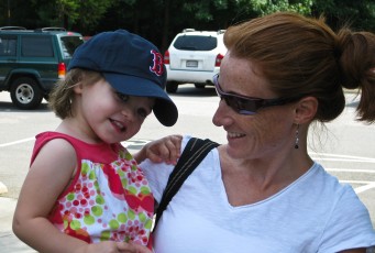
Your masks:
{"label": "sunlit pale grey parking lot pavement with white painted lines", "polygon": [[[180,88],[179,88],[180,89]],[[219,128],[212,128],[211,124],[211,116],[213,114],[212,111],[216,109],[217,105],[217,97],[214,95],[207,95],[203,94],[200,100],[196,99],[196,91],[192,88],[187,88],[187,90],[192,90],[191,94],[183,92],[181,95],[176,95],[174,97],[175,101],[178,103],[180,119],[177,123],[177,127],[174,129],[175,132],[178,133],[189,133],[194,136],[200,138],[210,138],[218,142],[224,142],[225,135],[222,134],[222,130]],[[206,90],[207,91],[207,90]],[[200,90],[200,92],[202,92]],[[0,92],[1,94],[1,92]],[[200,96],[200,94],[199,94]],[[1,96],[0,96],[1,97]],[[8,97],[8,96],[7,96]],[[0,99],[1,101],[1,99]],[[1,103],[1,102],[0,102]],[[4,103],[3,103],[4,105]],[[18,110],[10,110],[11,113],[8,113],[7,108],[10,108],[8,103],[3,106],[1,114],[1,124],[0,127],[9,125],[13,128],[13,125],[18,125],[14,130],[18,133],[23,133],[30,131],[30,127],[33,124],[23,124],[24,121],[29,120],[29,114],[33,117],[33,120],[30,122],[38,122],[35,125],[46,124],[46,121],[53,121],[53,117],[48,117],[45,110],[41,110],[40,112],[30,112],[27,117],[24,117]],[[201,108],[205,108],[202,110]],[[1,108],[0,108],[1,109]],[[329,124],[331,132],[337,133],[338,140],[340,140],[340,145],[334,146],[334,148],[329,148],[329,145],[326,145],[324,152],[326,153],[317,153],[312,152],[313,158],[318,162],[322,163],[330,173],[338,176],[341,182],[352,184],[359,197],[362,201],[367,206],[372,219],[373,224],[375,227],[375,204],[374,204],[374,196],[375,196],[375,170],[374,170],[374,135],[373,135],[373,125],[364,125],[359,122],[352,121],[352,114],[354,110],[354,106],[349,103],[346,106],[346,114],[344,113],[343,117],[339,118],[335,123]],[[11,117],[14,116],[14,117]],[[37,118],[38,117],[38,118]],[[19,120],[21,118],[22,120]],[[31,118],[31,117],[30,117]],[[20,123],[19,123],[20,122]],[[49,125],[49,123],[48,123]],[[165,136],[170,134],[168,128],[155,128],[155,125],[159,125],[156,119],[152,118],[148,122],[145,123],[143,127],[142,133],[142,141],[136,139],[136,142],[133,142],[130,150],[139,150],[139,146],[143,145],[147,140],[154,140],[159,136]],[[27,129],[26,129],[27,128]],[[5,128],[4,128],[5,129]],[[178,130],[178,131],[176,131]],[[16,132],[14,131],[14,132]],[[30,132],[38,132],[36,127],[34,131]],[[5,131],[2,131],[3,133]],[[174,133],[175,133],[174,132]],[[29,134],[29,132],[27,132]],[[24,134],[22,136],[11,136],[8,138],[7,134],[3,134],[1,142],[10,143],[22,140],[27,140],[32,135]],[[221,141],[220,138],[224,139]],[[218,140],[219,139],[219,140]],[[334,143],[337,139],[333,139],[332,142]],[[2,144],[3,144],[2,143]],[[0,143],[1,145],[1,143]],[[27,145],[25,147],[25,145]],[[22,146],[23,148],[19,148]],[[32,141],[23,142],[22,144],[7,146],[7,152],[11,152],[11,154],[22,154],[24,157],[29,155],[32,148]],[[27,154],[25,154],[25,150],[27,150]],[[327,150],[327,151],[326,151]],[[1,157],[7,156],[7,153],[3,153],[4,150],[1,150]],[[320,148],[317,148],[320,151]],[[12,155],[13,156],[13,155]],[[20,160],[20,157],[18,157]],[[22,160],[23,161],[23,160]],[[26,160],[25,160],[26,161]],[[29,156],[27,156],[29,161]],[[27,245],[25,245],[22,241],[20,241],[12,232],[12,219],[14,209],[18,201],[18,191],[19,187],[13,187],[14,185],[19,185],[19,178],[22,178],[24,175],[24,170],[19,169],[20,174],[9,174],[9,170],[16,167],[26,167],[27,162],[23,162],[19,164],[18,160],[2,160],[1,161],[1,168],[3,174],[0,175],[0,253],[35,253],[36,251],[32,250]],[[22,174],[23,173],[23,174]],[[18,176],[18,179],[13,179],[13,176]],[[1,179],[2,178],[2,179]],[[7,178],[7,179],[5,179]],[[10,179],[9,179],[10,178]],[[2,183],[1,183],[2,180]],[[3,184],[4,183],[4,184]],[[9,184],[8,184],[9,183]],[[7,189],[8,186],[8,189]],[[13,187],[13,188],[12,188]],[[8,191],[8,194],[7,194]]]}

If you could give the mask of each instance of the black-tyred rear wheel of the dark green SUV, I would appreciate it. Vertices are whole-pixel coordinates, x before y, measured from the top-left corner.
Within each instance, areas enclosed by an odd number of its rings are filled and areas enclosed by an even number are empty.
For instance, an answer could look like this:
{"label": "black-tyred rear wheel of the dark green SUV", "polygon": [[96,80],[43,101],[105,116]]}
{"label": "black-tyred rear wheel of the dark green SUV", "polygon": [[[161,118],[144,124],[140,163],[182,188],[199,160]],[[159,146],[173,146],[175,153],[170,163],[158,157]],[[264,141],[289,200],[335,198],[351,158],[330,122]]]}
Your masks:
{"label": "black-tyred rear wheel of the dark green SUV", "polygon": [[34,109],[41,105],[43,94],[33,78],[22,77],[13,81],[10,97],[18,108]]}

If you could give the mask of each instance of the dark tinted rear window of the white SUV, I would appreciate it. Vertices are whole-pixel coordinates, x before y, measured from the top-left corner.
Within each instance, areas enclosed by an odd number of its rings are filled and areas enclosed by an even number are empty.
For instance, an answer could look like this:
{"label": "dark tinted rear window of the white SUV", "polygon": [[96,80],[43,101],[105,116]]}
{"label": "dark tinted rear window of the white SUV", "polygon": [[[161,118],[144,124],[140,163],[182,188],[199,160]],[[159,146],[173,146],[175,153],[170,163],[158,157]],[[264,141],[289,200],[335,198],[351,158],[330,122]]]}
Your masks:
{"label": "dark tinted rear window of the white SUV", "polygon": [[216,37],[201,35],[183,35],[174,43],[174,46],[181,51],[212,51],[217,45]]}

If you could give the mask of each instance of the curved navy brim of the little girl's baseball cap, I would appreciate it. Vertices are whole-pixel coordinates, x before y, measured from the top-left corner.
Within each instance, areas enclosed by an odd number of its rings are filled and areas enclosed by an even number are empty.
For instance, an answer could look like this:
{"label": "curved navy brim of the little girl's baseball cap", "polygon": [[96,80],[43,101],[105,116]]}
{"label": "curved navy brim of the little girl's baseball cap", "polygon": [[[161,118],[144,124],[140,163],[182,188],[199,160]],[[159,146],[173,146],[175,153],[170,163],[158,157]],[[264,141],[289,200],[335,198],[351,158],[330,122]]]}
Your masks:
{"label": "curved navy brim of the little girl's baseball cap", "polygon": [[156,119],[165,127],[172,127],[177,122],[178,110],[169,96],[152,80],[136,76],[121,75],[115,73],[102,73],[106,80],[119,92],[156,98],[153,108]]}

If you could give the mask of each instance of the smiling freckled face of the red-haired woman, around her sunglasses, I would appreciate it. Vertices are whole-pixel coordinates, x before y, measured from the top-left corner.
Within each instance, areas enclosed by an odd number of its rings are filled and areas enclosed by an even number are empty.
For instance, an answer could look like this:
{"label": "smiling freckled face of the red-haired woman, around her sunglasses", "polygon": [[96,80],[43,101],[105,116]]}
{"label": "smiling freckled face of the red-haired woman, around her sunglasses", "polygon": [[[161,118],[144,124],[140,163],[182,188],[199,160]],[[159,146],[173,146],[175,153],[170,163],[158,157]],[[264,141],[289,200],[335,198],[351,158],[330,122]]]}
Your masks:
{"label": "smiling freckled face of the red-haired woman, around her sunglasses", "polygon": [[[268,88],[254,62],[234,57],[228,52],[220,67],[222,91],[246,97],[278,98]],[[255,114],[235,112],[220,100],[213,123],[227,131],[227,152],[234,158],[264,158],[294,148],[296,127],[293,103],[260,109]]]}

